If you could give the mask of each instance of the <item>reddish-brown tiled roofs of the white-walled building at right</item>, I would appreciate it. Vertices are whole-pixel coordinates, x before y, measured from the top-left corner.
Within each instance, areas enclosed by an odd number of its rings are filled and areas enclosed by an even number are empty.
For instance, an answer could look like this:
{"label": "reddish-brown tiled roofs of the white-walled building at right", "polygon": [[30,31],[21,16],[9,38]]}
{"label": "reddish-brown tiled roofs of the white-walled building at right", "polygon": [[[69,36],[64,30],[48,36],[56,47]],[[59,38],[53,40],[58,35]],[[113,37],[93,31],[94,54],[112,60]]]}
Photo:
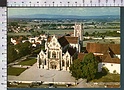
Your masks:
{"label": "reddish-brown tiled roofs of the white-walled building at right", "polygon": [[[120,55],[120,44],[87,43],[86,51],[88,53],[102,53],[96,54],[99,62],[120,64],[120,59],[116,56],[116,54]],[[79,53],[78,59],[83,60],[85,54],[87,53]]]}

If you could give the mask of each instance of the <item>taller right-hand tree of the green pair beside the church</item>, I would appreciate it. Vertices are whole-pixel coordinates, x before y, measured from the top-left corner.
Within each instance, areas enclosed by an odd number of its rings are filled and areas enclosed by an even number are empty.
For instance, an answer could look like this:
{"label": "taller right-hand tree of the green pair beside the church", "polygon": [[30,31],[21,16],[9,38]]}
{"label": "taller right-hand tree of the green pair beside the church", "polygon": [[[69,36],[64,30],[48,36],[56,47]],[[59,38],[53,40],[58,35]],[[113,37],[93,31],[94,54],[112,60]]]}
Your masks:
{"label": "taller right-hand tree of the green pair beside the church", "polygon": [[83,78],[86,78],[87,81],[94,79],[98,71],[98,62],[93,53],[84,56],[82,66]]}

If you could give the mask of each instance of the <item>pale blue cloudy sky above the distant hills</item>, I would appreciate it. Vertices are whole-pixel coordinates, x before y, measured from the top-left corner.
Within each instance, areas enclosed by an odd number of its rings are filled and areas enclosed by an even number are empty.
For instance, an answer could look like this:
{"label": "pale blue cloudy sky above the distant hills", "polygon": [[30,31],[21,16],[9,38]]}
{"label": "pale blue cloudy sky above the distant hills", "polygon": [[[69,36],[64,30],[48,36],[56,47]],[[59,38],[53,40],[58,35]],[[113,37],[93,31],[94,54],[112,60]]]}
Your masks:
{"label": "pale blue cloudy sky above the distant hills", "polygon": [[102,16],[120,15],[119,7],[88,7],[88,8],[9,8],[8,16],[17,15],[75,15],[75,16]]}

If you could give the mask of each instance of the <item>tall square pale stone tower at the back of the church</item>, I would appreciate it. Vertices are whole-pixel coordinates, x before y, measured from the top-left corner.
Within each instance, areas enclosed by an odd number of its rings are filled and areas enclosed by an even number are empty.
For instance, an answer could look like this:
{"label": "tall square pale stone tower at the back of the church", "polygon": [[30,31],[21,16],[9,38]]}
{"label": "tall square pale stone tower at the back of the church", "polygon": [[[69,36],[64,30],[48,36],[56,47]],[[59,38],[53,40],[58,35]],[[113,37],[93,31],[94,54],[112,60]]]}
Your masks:
{"label": "tall square pale stone tower at the back of the church", "polygon": [[74,26],[74,37],[78,37],[80,41],[82,41],[82,24],[75,23]]}

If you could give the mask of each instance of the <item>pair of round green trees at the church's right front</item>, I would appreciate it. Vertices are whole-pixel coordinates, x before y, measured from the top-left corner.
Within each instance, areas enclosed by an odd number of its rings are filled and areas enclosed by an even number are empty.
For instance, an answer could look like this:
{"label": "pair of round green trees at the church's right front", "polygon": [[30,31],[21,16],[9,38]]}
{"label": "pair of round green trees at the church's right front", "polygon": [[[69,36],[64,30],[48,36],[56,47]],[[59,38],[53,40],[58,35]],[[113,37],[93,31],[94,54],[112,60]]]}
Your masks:
{"label": "pair of round green trees at the church's right front", "polygon": [[95,78],[98,71],[98,61],[93,53],[84,56],[82,61],[76,59],[70,66],[70,71],[73,77],[78,80],[79,78],[86,78],[89,82]]}

